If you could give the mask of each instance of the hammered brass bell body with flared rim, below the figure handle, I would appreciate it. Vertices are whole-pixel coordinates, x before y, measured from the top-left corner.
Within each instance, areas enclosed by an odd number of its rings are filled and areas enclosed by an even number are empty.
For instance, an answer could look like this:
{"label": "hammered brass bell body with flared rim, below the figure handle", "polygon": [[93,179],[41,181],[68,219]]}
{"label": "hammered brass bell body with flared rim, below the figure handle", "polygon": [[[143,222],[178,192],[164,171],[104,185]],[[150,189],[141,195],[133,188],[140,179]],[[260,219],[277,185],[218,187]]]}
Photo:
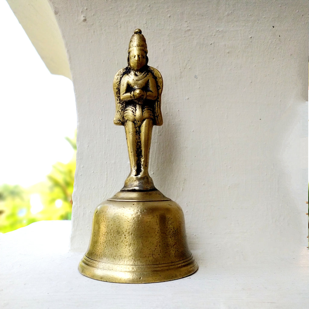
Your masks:
{"label": "hammered brass bell body with flared rim, below the figure handle", "polygon": [[180,279],[197,270],[180,206],[159,190],[120,191],[95,210],[89,248],[78,270],[108,282]]}

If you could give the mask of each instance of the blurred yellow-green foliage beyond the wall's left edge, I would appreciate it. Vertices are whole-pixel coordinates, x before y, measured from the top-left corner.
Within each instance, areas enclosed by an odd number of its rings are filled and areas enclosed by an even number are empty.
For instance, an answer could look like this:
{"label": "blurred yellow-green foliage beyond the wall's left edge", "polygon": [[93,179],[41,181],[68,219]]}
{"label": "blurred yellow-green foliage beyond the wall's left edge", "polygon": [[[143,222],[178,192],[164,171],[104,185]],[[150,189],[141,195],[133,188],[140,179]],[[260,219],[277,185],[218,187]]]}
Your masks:
{"label": "blurred yellow-green foliage beyond the wall's left edge", "polygon": [[0,185],[0,232],[6,233],[40,220],[70,220],[76,167],[76,135],[66,138],[74,155],[53,165],[46,180],[29,188]]}

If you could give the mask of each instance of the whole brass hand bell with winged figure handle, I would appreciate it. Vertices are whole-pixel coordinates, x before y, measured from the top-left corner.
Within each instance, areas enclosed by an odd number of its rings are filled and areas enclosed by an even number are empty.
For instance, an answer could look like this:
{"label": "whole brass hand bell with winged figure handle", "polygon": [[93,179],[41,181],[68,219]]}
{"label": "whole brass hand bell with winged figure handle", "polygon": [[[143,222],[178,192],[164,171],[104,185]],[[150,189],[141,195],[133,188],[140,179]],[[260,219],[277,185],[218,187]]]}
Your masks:
{"label": "whole brass hand bell with winged figure handle", "polygon": [[128,66],[113,82],[115,125],[125,127],[130,174],[120,192],[95,210],[89,248],[78,270],[110,282],[149,283],[186,277],[197,270],[188,249],[184,215],[148,173],[151,133],[162,125],[162,76],[148,66],[140,29],[129,42]]}

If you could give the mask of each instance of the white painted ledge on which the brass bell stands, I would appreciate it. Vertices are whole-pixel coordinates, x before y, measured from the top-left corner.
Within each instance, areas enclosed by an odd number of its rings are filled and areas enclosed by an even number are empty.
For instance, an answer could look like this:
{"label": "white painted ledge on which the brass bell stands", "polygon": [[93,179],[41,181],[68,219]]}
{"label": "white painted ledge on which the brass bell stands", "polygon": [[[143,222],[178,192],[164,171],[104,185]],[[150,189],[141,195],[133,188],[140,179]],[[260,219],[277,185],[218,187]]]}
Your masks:
{"label": "white painted ledge on which the brass bell stands", "polygon": [[[306,308],[308,263],[227,269],[201,266],[175,281],[118,284],[78,273],[83,252],[69,252],[70,221],[36,222],[0,235],[0,307]],[[203,252],[193,252],[202,256]],[[307,252],[304,253],[307,256]],[[207,264],[207,263],[206,263]]]}

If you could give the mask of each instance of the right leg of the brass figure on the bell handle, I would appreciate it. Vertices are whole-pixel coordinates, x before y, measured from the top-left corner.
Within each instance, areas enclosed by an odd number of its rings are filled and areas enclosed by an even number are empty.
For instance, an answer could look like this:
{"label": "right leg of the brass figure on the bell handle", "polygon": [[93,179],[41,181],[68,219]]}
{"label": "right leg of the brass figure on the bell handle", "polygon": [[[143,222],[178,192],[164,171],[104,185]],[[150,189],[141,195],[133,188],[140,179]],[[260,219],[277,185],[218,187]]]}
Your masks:
{"label": "right leg of the brass figure on the bell handle", "polygon": [[141,148],[142,148],[141,175],[149,175],[148,163],[149,163],[152,128],[153,128],[152,119],[145,119],[141,125]]}

